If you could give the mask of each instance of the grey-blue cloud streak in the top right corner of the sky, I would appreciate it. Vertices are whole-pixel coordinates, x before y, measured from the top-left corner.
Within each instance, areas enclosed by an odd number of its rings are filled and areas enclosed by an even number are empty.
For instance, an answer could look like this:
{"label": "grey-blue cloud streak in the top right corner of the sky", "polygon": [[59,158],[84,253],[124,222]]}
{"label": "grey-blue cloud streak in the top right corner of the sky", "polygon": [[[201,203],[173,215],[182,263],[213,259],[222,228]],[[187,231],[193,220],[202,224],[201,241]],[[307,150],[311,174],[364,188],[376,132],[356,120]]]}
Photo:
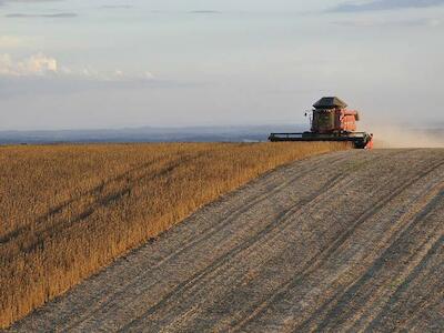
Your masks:
{"label": "grey-blue cloud streak in the top right corner of the sky", "polygon": [[329,12],[363,12],[405,8],[427,8],[444,4],[444,0],[373,0],[364,3],[342,3]]}

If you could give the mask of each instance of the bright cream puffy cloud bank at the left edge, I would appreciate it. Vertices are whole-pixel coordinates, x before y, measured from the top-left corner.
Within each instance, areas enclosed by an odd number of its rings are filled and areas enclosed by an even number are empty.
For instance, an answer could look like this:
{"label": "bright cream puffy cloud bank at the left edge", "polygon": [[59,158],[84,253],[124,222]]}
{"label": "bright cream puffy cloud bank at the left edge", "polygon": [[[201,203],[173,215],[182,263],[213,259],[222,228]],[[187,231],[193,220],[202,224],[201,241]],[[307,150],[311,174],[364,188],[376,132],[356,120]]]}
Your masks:
{"label": "bright cream puffy cloud bank at the left edge", "polygon": [[32,54],[21,60],[13,59],[10,54],[0,54],[0,77],[9,78],[52,78],[52,79],[77,79],[90,81],[149,81],[154,75],[151,72],[143,71],[138,73],[128,73],[115,69],[111,71],[98,71],[91,68],[80,70],[60,65],[57,59],[43,53]]}

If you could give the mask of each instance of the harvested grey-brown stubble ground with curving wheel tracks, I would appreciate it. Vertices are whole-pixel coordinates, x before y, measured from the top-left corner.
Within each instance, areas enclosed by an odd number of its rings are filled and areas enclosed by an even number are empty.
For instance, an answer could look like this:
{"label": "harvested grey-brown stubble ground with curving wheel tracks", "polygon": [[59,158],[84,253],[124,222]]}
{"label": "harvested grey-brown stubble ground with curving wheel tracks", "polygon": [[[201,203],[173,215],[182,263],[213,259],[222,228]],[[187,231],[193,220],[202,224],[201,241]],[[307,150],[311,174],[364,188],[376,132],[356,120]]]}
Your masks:
{"label": "harvested grey-brown stubble ground with curving wheel tracks", "polygon": [[444,150],[347,151],[203,208],[13,331],[444,330]]}

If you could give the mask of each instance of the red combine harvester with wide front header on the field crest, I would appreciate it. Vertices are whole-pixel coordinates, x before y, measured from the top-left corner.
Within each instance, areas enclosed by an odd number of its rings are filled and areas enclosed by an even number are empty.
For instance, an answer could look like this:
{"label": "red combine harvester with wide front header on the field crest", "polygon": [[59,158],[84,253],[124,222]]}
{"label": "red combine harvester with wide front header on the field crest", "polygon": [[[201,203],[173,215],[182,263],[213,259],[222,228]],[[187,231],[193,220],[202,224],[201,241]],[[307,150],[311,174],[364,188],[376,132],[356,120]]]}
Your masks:
{"label": "red combine harvester with wide front header on the field crest", "polygon": [[[360,114],[346,110],[347,104],[336,97],[325,97],[310,112],[311,131],[303,133],[271,133],[269,140],[279,141],[344,141],[356,149],[372,149],[373,134],[356,132]],[[309,112],[305,113],[309,115]]]}

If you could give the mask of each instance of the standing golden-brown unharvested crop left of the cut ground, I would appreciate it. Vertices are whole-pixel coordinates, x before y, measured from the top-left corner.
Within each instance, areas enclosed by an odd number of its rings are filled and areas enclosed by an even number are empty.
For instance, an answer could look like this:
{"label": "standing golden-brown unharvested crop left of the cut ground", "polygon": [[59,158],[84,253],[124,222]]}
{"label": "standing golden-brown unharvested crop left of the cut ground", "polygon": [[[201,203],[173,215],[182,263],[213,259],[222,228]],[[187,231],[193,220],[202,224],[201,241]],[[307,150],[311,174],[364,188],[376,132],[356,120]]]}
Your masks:
{"label": "standing golden-brown unharvested crop left of the cut ground", "polygon": [[0,147],[0,327],[198,208],[341,143]]}

